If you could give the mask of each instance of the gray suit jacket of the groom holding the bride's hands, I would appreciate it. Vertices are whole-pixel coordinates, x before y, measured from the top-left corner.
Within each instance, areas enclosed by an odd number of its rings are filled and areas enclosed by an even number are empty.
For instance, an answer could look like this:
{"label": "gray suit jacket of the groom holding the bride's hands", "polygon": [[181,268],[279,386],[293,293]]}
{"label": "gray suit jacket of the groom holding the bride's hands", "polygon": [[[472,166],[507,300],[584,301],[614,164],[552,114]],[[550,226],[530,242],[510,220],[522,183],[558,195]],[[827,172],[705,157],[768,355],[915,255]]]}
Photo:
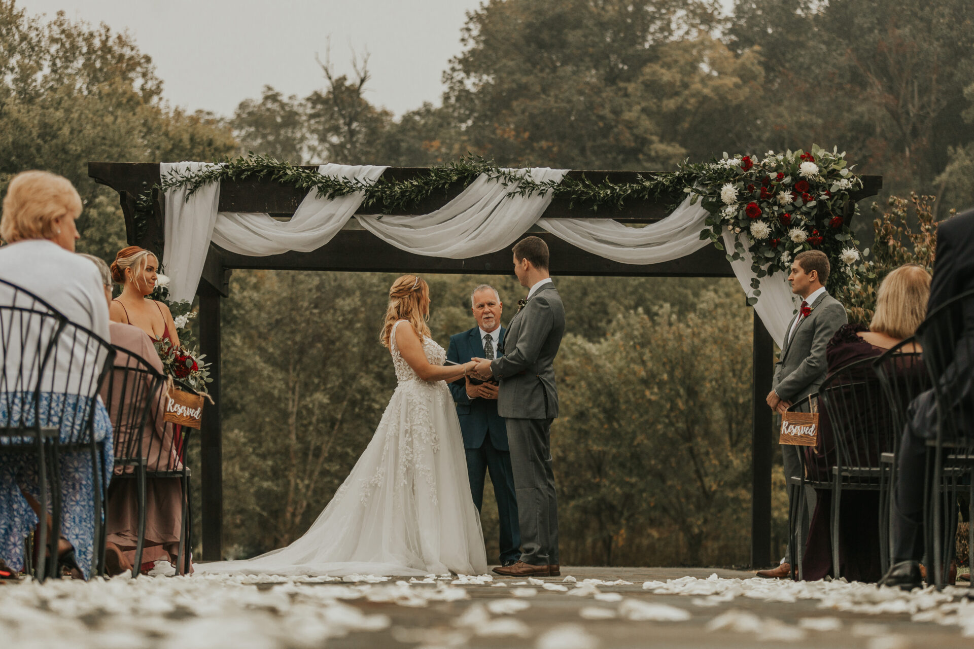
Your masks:
{"label": "gray suit jacket of the groom holding the bride's hands", "polygon": [[508,419],[558,416],[554,357],[565,334],[565,308],[554,284],[547,283],[511,318],[504,356],[491,362],[501,384],[497,412]]}

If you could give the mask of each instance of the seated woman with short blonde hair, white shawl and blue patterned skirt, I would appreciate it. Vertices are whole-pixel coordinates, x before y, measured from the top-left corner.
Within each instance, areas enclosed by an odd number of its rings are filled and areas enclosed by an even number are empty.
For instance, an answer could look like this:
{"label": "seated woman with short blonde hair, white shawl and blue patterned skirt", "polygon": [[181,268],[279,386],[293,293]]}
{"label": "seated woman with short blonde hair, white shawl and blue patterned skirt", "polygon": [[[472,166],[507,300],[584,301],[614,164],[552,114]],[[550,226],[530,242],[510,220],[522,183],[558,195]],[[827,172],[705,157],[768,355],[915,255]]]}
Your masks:
{"label": "seated woman with short blonde hair, white shawl and blue patterned skirt", "polygon": [[[14,176],[3,201],[0,235],[9,245],[0,248],[0,277],[17,284],[56,308],[74,323],[108,340],[108,307],[98,272],[74,254],[80,237],[75,219],[81,214],[78,192],[61,176],[46,171],[24,171]],[[11,291],[0,287],[0,304],[10,304]],[[55,377],[66,378],[72,351],[69,337],[58,340]],[[24,359],[29,360],[29,359]],[[18,372],[19,358],[5,358],[4,371]],[[41,425],[59,426],[60,439],[77,436],[79,417],[74,413],[79,395],[66,379],[63,392],[41,394]],[[74,388],[77,389],[77,388]],[[0,421],[8,420],[9,406],[19,409],[19,395],[0,399]],[[52,403],[67,406],[58,412]],[[56,418],[56,420],[54,420]],[[100,400],[94,408],[94,439],[111,445],[111,424]],[[112,474],[112,454],[105,453],[104,480]],[[60,452],[61,528],[56,560],[73,576],[88,577],[94,559],[94,469],[88,451]],[[36,457],[25,453],[0,454],[0,558],[23,569],[27,534],[41,518]],[[50,517],[43,517],[50,521]]]}

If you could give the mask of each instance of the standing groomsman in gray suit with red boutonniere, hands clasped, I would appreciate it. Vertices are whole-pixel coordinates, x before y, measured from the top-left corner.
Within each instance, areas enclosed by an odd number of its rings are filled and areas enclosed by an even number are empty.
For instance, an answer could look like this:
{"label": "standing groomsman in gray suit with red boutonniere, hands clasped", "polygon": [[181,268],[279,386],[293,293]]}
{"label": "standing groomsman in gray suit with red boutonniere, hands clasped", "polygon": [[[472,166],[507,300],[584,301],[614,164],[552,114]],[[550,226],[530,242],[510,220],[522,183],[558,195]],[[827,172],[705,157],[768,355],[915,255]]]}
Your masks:
{"label": "standing groomsman in gray suit with red boutonniere, hands clasped", "polygon": [[[825,291],[829,279],[829,258],[820,250],[805,250],[795,256],[788,281],[792,293],[802,296],[802,306],[788,325],[781,356],[775,364],[773,386],[768,393],[768,406],[776,413],[784,413],[792,404],[808,411],[808,395],[818,392],[825,380],[828,361],[825,347],[839,328],[848,322],[845,307]],[[802,475],[802,447],[781,445],[785,480]],[[788,489],[788,506],[791,507],[791,489]],[[799,525],[801,538],[807,537],[808,522],[815,507],[815,489],[805,487],[805,507],[800,508]],[[760,570],[759,577],[790,577],[793,561],[801,561],[803,548],[788,550],[781,563],[770,570]]]}

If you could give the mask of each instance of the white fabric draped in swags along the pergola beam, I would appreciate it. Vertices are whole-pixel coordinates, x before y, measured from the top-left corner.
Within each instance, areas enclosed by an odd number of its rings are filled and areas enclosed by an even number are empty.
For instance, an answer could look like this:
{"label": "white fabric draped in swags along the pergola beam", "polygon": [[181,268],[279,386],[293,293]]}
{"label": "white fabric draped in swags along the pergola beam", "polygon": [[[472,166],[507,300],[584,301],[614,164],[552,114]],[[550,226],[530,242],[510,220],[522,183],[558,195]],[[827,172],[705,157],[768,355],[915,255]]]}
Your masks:
{"label": "white fabric draped in swags along the pergola beam", "polygon": [[[193,170],[200,162],[163,163],[160,173]],[[322,164],[323,175],[374,183],[384,166]],[[567,171],[536,167],[518,169],[538,182],[560,182]],[[502,250],[537,225],[568,243],[600,257],[624,264],[659,264],[685,257],[710,245],[700,239],[707,212],[690,198],[672,214],[644,228],[630,228],[606,219],[545,219],[551,201],[545,195],[507,195],[513,186],[482,175],[457,198],[430,214],[420,216],[357,215],[363,228],[395,247],[427,257],[467,259]],[[169,295],[174,300],[192,301],[196,294],[206,251],[212,241],[232,252],[250,256],[275,255],[297,250],[310,252],[326,244],[351,219],[361,204],[362,193],[319,198],[312,190],[288,221],[267,214],[217,213],[220,188],[207,185],[186,201],[186,190],[166,193],[166,253],[163,263],[170,277]],[[725,244],[733,250],[731,234]],[[741,288],[751,296],[751,261],[731,263]],[[788,321],[794,314],[791,289],[783,275],[761,282],[761,297],[755,306],[775,343],[784,342]]]}

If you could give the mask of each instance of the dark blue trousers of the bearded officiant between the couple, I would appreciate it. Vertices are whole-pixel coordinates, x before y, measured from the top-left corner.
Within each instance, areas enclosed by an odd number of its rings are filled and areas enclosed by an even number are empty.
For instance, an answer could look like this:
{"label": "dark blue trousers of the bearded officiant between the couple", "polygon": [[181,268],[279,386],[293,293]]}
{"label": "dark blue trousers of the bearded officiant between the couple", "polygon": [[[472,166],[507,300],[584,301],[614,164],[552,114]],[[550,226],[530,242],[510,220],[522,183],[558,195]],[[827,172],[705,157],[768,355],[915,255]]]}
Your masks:
{"label": "dark blue trousers of the bearded officiant between the couple", "polygon": [[521,538],[517,524],[517,495],[514,491],[514,474],[510,468],[510,451],[499,451],[491,444],[490,435],[484,437],[479,449],[467,452],[467,475],[470,479],[470,495],[477,511],[483,504],[484,479],[490,471],[497,499],[497,513],[501,520],[501,564],[521,557]]}

